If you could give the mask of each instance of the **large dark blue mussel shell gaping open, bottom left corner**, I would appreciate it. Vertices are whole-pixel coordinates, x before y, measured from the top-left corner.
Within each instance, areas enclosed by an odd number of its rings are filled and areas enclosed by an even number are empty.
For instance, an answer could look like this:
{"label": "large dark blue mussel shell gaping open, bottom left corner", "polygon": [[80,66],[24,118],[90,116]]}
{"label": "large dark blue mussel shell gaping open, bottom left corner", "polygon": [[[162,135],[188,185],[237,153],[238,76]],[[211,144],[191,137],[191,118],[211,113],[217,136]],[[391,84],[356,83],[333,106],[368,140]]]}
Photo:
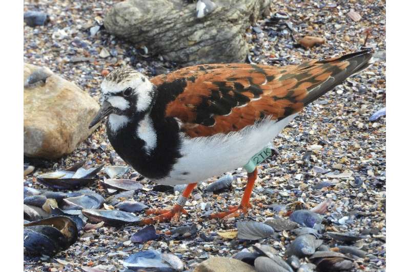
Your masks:
{"label": "large dark blue mussel shell gaping open, bottom left corner", "polygon": [[24,252],[28,256],[54,256],[77,241],[77,227],[69,217],[56,216],[24,225]]}

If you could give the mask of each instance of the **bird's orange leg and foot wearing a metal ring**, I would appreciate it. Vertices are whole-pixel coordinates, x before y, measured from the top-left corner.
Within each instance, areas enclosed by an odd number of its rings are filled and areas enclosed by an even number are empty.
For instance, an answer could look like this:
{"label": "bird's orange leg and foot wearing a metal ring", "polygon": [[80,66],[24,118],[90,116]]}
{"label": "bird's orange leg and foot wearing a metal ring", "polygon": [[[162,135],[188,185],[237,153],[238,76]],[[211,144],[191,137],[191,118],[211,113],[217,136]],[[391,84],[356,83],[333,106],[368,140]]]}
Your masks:
{"label": "bird's orange leg and foot wearing a metal ring", "polygon": [[183,208],[183,205],[187,201],[192,190],[195,188],[196,183],[188,184],[187,188],[182,192],[182,195],[179,196],[177,204],[175,204],[171,209],[149,209],[145,213],[147,215],[156,214],[158,216],[142,219],[139,221],[140,225],[155,224],[156,222],[167,222],[167,221],[178,221],[181,213],[187,213]]}

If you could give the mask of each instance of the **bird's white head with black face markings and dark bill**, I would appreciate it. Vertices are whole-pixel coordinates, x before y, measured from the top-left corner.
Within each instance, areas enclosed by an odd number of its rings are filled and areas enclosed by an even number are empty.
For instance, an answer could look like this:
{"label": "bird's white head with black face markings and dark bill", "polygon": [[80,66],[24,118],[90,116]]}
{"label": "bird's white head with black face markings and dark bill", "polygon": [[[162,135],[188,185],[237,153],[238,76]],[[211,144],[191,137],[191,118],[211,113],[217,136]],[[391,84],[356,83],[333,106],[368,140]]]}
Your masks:
{"label": "bird's white head with black face markings and dark bill", "polygon": [[155,86],[148,78],[132,68],[120,68],[109,73],[101,83],[103,104],[89,128],[110,114],[130,120],[138,113],[149,111]]}

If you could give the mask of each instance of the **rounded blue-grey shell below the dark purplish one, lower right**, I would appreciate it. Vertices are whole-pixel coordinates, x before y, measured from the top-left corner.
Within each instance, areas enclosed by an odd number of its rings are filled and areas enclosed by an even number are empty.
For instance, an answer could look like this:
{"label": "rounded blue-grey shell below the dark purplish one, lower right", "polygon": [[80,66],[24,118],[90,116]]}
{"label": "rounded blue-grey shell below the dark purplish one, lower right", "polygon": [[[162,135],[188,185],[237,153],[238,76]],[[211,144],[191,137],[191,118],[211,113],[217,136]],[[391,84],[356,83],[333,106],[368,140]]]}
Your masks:
{"label": "rounded blue-grey shell below the dark purplish one, lower right", "polygon": [[286,249],[286,255],[295,255],[299,258],[310,256],[315,253],[316,248],[318,248],[322,243],[322,240],[316,240],[316,237],[313,235],[301,235],[293,240],[288,246]]}

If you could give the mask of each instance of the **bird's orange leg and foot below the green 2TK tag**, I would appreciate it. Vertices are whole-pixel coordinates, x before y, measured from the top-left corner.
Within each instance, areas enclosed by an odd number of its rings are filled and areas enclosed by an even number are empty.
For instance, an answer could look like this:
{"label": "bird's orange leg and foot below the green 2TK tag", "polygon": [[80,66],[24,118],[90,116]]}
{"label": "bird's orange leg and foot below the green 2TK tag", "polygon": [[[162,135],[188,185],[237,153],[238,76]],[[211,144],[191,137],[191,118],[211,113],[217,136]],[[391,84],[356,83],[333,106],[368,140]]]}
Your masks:
{"label": "bird's orange leg and foot below the green 2TK tag", "polygon": [[253,186],[255,185],[256,178],[258,176],[258,169],[255,169],[252,173],[248,173],[248,182],[245,191],[243,192],[242,200],[239,206],[229,206],[227,211],[212,213],[209,218],[233,218],[238,217],[241,213],[247,213],[248,209],[252,206],[249,203]]}

